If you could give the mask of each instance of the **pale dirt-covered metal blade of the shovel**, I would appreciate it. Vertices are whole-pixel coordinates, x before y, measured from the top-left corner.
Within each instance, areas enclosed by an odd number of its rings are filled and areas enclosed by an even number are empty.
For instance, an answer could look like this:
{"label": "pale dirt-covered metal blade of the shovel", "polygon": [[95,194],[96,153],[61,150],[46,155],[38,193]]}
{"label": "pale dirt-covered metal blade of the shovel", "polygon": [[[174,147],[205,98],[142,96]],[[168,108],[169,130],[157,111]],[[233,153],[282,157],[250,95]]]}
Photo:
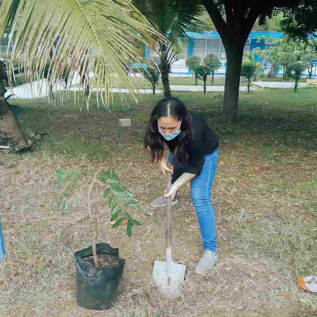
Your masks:
{"label": "pale dirt-covered metal blade of the shovel", "polygon": [[153,279],[160,292],[169,296],[177,297],[179,285],[184,282],[186,265],[175,262],[155,261]]}

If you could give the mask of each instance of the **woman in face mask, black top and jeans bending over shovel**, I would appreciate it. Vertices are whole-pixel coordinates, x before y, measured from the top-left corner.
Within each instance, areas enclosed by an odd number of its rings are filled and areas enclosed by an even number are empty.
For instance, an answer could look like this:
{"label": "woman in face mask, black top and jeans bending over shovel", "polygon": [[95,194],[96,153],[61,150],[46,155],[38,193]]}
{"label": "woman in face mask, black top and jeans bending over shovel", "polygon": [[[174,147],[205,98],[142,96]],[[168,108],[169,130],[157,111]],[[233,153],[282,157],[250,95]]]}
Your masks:
{"label": "woman in face mask, black top and jeans bending over shovel", "polygon": [[[170,154],[163,156],[164,144]],[[204,254],[195,273],[211,271],[219,259],[217,251],[216,221],[210,190],[218,158],[218,138],[203,117],[186,110],[177,98],[160,100],[151,113],[146,128],[144,146],[151,150],[152,162],[157,159],[163,174],[172,173],[172,186],[168,193],[152,201],[153,207],[166,205],[165,198],[177,203],[177,191],[191,182],[191,197],[202,234]],[[172,164],[170,170],[166,162]]]}

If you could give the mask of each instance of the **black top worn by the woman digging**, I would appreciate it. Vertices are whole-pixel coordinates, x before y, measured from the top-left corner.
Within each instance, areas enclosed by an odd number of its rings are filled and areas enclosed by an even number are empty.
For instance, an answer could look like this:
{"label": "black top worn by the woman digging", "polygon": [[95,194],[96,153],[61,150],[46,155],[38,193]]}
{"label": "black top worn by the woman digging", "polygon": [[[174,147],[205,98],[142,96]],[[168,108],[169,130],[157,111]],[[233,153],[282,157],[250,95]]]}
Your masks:
{"label": "black top worn by the woman digging", "polygon": [[[188,164],[182,164],[182,171],[183,173],[198,175],[203,168],[204,157],[217,150],[219,141],[217,135],[212,132],[204,117],[191,111],[188,111],[188,113],[192,119],[192,153],[190,162]],[[162,139],[164,138],[162,137]],[[178,140],[179,135],[170,141],[164,139],[164,142],[167,144],[172,153],[178,144]]]}

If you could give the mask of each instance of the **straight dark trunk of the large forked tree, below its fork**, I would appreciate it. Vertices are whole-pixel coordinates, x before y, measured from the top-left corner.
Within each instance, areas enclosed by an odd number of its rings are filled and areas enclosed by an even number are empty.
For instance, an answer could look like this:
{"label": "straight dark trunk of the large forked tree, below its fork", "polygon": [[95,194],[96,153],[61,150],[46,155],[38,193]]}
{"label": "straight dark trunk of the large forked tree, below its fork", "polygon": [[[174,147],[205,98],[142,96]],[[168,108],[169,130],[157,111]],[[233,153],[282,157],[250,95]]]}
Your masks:
{"label": "straight dark trunk of the large forked tree, below its fork", "polygon": [[228,120],[236,120],[240,87],[240,74],[243,57],[243,45],[235,41],[226,45],[227,72],[224,83],[223,115]]}

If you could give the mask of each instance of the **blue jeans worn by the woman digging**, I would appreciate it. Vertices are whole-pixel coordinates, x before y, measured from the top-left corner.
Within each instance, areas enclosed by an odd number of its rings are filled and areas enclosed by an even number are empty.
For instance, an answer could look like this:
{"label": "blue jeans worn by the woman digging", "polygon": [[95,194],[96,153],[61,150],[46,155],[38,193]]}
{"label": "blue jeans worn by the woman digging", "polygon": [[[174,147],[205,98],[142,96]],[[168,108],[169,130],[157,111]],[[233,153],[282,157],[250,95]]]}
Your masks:
{"label": "blue jeans worn by the woman digging", "polygon": [[[191,197],[197,212],[198,222],[203,241],[203,250],[217,250],[216,218],[214,206],[210,201],[211,186],[215,177],[218,159],[218,149],[205,156],[203,169],[199,175],[191,180]],[[173,160],[169,154],[168,162],[174,165],[172,183],[183,173],[182,166]]]}

